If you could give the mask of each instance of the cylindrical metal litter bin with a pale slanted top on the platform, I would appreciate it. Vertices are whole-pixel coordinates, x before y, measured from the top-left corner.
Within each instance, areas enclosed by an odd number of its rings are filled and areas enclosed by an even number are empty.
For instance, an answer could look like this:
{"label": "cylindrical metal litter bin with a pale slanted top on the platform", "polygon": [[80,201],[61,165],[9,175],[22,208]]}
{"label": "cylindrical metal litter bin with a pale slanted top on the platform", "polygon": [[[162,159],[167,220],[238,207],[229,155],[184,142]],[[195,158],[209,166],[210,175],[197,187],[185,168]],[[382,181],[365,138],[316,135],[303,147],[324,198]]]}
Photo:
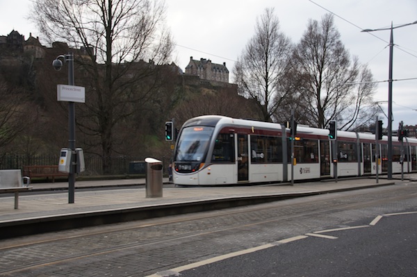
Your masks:
{"label": "cylindrical metal litter bin with a pale slanted top on the platform", "polygon": [[161,160],[146,158],[146,197],[162,197],[163,166]]}

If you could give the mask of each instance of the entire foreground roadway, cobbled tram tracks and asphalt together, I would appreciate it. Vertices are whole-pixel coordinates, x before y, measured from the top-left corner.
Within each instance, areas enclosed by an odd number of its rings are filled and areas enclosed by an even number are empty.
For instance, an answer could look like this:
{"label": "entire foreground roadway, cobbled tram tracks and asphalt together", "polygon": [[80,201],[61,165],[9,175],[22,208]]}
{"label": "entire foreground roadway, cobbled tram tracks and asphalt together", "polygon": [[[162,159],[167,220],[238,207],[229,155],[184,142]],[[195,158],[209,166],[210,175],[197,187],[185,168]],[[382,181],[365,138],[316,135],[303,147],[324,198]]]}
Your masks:
{"label": "entire foreground roadway, cobbled tram tracks and asphalt together", "polygon": [[416,196],[407,182],[20,237],[0,242],[0,276],[415,276]]}

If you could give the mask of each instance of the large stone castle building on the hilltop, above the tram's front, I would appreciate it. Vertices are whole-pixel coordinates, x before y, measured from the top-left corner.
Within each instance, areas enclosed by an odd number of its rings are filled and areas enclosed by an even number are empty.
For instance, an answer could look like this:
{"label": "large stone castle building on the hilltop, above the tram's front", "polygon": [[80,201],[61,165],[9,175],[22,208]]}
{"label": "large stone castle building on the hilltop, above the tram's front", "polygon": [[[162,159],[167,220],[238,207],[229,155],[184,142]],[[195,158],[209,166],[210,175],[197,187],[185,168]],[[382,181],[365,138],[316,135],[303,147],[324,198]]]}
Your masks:
{"label": "large stone castle building on the hilltop, above the tram's front", "polygon": [[204,58],[193,60],[193,57],[190,57],[190,62],[186,67],[186,74],[199,76],[202,80],[229,83],[229,70],[226,67],[226,62],[218,65],[211,62],[211,60]]}

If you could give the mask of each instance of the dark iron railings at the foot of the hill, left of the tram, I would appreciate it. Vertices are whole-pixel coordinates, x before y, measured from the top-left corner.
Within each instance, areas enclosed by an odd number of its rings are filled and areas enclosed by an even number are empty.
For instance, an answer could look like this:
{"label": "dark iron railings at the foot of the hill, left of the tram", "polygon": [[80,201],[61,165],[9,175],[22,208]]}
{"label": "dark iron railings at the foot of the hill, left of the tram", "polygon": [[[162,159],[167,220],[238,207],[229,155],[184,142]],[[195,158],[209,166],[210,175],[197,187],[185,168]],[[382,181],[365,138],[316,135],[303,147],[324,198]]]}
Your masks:
{"label": "dark iron railings at the foot of the hill, left of the tram", "polygon": [[[145,174],[145,157],[118,156],[107,159],[110,166],[106,173],[103,170],[103,159],[97,156],[84,156],[84,176],[118,175],[118,174]],[[163,158],[162,160],[165,160]],[[0,169],[23,169],[25,165],[58,165],[59,156],[26,156],[4,155],[0,156]]]}

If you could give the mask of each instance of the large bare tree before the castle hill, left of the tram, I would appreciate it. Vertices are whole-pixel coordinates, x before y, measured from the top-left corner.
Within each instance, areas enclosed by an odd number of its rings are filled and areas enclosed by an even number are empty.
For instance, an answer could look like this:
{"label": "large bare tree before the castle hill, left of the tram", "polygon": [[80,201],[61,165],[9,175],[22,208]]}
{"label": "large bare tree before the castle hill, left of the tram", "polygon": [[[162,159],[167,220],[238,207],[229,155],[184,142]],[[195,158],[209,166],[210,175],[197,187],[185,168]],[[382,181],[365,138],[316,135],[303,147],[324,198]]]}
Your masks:
{"label": "large bare tree before the castle hill, left of the tram", "polygon": [[[77,125],[85,144],[110,168],[117,128],[158,97],[158,65],[173,50],[165,2],[152,0],[36,0],[35,22],[51,42],[81,49],[76,62],[86,87]],[[149,62],[145,62],[149,61]],[[96,150],[95,150],[96,149]]]}

